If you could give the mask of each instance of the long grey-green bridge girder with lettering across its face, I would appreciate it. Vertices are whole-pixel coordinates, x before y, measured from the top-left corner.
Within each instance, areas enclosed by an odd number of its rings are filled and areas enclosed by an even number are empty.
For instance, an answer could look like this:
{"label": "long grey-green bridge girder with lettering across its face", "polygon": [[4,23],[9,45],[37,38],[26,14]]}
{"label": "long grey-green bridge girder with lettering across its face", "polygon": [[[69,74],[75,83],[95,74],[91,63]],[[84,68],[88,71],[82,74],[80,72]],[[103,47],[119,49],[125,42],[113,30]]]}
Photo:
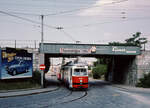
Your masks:
{"label": "long grey-green bridge girder with lettering across its face", "polygon": [[136,46],[109,46],[101,44],[43,43],[40,52],[49,54],[139,55]]}

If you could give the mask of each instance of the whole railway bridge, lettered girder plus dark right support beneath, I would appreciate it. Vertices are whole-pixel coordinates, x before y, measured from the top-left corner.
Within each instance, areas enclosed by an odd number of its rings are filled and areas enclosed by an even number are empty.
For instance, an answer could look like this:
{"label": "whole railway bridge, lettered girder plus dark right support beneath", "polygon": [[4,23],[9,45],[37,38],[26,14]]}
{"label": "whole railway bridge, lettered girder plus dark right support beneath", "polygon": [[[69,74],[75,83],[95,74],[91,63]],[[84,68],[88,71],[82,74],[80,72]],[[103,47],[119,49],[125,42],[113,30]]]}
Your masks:
{"label": "whole railway bridge, lettered girder plus dark right support beneath", "polygon": [[[126,85],[137,83],[136,46],[110,46],[106,44],[40,43],[40,62],[48,64],[51,57],[110,58],[107,81]],[[46,71],[49,67],[46,65]]]}

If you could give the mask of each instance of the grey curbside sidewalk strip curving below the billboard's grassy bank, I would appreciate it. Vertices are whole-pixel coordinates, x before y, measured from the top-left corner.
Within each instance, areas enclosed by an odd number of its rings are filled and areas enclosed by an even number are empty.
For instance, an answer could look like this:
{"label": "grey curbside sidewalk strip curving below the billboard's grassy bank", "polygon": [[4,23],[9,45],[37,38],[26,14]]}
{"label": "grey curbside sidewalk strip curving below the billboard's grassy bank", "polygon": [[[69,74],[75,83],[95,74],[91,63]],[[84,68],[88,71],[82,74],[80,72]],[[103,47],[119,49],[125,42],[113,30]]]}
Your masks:
{"label": "grey curbside sidewalk strip curving below the billboard's grassy bank", "polygon": [[58,86],[51,86],[48,88],[37,88],[37,89],[25,89],[25,90],[15,90],[15,91],[0,91],[0,98],[7,98],[7,97],[16,97],[16,96],[27,96],[39,93],[45,93],[50,91],[55,91],[59,89]]}

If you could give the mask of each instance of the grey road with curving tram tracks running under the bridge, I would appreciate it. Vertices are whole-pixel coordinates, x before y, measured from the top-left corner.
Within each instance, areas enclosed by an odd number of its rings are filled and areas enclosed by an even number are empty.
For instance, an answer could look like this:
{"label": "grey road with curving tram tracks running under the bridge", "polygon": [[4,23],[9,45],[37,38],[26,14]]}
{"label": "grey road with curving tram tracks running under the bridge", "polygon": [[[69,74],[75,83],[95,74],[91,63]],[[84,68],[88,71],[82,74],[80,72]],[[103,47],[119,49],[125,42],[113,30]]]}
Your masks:
{"label": "grey road with curving tram tracks running under the bridge", "polygon": [[[49,86],[58,81],[49,80]],[[56,91],[30,96],[0,98],[0,108],[150,108],[150,94],[128,91],[103,81],[90,81],[87,91]]]}

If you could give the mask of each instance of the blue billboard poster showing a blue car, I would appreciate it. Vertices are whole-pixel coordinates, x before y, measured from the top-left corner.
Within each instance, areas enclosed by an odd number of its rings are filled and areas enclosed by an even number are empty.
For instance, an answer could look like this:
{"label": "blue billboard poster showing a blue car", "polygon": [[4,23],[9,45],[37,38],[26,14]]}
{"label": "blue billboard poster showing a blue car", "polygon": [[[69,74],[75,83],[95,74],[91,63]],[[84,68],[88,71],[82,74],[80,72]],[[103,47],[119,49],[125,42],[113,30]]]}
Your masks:
{"label": "blue billboard poster showing a blue car", "polygon": [[32,77],[32,54],[26,50],[1,50],[1,79]]}

